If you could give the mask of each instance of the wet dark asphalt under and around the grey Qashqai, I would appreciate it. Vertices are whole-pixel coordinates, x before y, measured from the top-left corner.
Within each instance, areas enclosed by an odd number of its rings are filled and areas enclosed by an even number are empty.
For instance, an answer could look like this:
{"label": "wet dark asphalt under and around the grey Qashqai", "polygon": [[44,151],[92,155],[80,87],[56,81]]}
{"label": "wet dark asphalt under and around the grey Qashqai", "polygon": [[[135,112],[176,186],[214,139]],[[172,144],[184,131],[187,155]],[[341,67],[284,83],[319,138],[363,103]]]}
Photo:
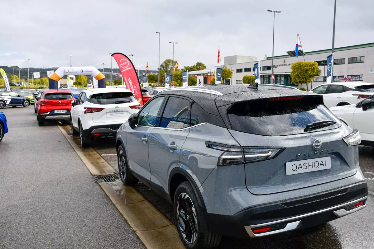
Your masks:
{"label": "wet dark asphalt under and around the grey Qashqai", "polygon": [[[93,141],[92,147],[117,169],[115,139]],[[374,148],[359,146],[359,162],[368,182],[368,205],[365,209],[329,222],[327,225],[257,239],[233,239],[224,237],[220,249],[359,249],[374,248]],[[135,186],[166,218],[174,222],[173,207],[147,186]]]}

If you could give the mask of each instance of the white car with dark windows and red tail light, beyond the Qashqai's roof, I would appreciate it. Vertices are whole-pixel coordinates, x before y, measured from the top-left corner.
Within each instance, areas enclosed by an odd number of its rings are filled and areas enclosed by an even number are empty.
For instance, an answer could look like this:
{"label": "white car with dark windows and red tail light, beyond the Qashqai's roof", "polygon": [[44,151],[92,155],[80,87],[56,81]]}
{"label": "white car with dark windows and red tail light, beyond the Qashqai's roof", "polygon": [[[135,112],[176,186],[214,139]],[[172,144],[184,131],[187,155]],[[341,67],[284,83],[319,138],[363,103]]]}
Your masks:
{"label": "white car with dark windows and red tail light, beyond the Qashqai's roof", "polygon": [[374,84],[365,82],[337,82],[322,84],[310,90],[322,94],[327,108],[357,104],[374,93]]}

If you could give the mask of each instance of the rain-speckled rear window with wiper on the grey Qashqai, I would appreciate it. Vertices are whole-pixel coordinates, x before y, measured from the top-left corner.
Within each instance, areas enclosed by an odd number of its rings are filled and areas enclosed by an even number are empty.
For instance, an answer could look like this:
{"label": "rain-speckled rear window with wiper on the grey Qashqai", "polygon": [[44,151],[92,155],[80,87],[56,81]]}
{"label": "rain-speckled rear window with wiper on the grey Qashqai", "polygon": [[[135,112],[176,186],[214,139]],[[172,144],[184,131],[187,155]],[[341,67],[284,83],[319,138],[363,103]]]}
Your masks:
{"label": "rain-speckled rear window with wiper on the grey Qashqai", "polygon": [[239,102],[227,113],[233,130],[263,136],[305,133],[306,125],[317,121],[335,121],[336,124],[306,132],[330,130],[341,124],[314,96]]}

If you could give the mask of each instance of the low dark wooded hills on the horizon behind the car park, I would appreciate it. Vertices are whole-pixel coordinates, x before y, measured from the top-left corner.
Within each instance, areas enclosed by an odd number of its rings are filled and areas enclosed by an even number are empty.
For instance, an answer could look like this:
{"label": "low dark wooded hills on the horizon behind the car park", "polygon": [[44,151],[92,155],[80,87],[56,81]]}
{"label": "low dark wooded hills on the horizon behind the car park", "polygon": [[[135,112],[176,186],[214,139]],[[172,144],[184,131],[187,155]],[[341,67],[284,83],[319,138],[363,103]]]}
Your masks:
{"label": "low dark wooded hills on the horizon behind the car park", "polygon": [[[0,68],[3,68],[4,71],[6,72],[9,80],[10,80],[10,75],[13,74],[13,68],[14,68],[14,74],[18,76],[18,66],[0,66]],[[33,72],[40,72],[40,77],[47,77],[47,71],[55,71],[57,68],[29,68],[30,71],[30,78],[33,77],[31,73]],[[98,68],[100,72],[102,72],[102,68]],[[118,70],[118,74],[120,74],[119,69],[113,68],[113,78],[116,77]],[[27,68],[20,68],[19,74],[21,76],[22,80],[27,79]],[[145,70],[139,69],[139,75],[145,74]],[[148,70],[147,74],[157,74],[157,70]],[[105,77],[110,79],[110,68],[104,68],[104,75]],[[66,78],[66,77],[64,77]]]}

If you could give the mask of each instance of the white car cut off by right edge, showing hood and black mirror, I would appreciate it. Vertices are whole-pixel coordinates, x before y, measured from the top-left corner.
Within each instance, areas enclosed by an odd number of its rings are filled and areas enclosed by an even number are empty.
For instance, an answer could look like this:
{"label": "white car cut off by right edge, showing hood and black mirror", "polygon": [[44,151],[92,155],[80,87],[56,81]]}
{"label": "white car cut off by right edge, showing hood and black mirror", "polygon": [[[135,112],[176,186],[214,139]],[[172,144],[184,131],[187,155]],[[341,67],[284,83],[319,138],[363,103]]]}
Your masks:
{"label": "white car cut off by right edge, showing hood and black mirror", "polygon": [[355,105],[332,107],[330,111],[360,132],[361,144],[374,146],[374,95]]}

